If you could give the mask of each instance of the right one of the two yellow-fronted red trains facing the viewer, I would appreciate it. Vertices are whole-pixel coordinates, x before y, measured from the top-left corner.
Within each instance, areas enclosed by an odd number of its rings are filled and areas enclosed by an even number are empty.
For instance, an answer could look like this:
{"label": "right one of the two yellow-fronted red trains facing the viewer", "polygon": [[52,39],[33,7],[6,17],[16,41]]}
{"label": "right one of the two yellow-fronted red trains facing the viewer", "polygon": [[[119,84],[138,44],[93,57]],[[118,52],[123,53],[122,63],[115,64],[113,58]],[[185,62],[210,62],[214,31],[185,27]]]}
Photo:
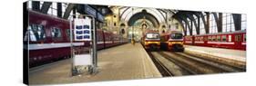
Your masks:
{"label": "right one of the two yellow-fronted red trains facing the viewer", "polygon": [[184,52],[183,34],[181,31],[170,31],[169,33],[161,34],[161,49]]}

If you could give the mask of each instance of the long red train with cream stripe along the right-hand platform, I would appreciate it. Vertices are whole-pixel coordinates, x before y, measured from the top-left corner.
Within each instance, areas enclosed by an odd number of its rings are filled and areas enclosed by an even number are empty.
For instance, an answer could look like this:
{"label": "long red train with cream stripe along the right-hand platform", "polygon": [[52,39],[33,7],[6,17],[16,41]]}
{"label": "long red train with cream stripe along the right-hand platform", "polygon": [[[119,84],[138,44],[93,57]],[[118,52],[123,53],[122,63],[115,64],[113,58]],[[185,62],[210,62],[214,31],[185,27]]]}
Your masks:
{"label": "long red train with cream stripe along the right-hand platform", "polygon": [[246,31],[188,35],[184,43],[197,46],[246,50]]}

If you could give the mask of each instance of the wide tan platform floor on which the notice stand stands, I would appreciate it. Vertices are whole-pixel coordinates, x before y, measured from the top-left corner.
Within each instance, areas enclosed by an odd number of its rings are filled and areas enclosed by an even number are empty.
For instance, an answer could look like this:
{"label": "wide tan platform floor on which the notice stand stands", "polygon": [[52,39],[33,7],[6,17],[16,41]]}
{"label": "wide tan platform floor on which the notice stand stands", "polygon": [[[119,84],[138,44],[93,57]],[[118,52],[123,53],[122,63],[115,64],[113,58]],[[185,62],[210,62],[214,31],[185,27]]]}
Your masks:
{"label": "wide tan platform floor on which the notice stand stands", "polygon": [[97,74],[71,77],[71,59],[29,72],[29,84],[56,84],[87,81],[134,80],[162,77],[140,43],[118,45],[97,52]]}

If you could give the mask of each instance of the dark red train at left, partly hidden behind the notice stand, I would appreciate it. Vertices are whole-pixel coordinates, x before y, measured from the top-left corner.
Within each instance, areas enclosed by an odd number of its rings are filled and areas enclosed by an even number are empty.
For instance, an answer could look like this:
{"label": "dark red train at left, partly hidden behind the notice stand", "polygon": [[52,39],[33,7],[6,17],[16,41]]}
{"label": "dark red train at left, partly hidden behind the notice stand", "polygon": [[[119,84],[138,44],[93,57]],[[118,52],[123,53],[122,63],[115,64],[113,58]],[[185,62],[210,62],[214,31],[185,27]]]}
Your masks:
{"label": "dark red train at left, partly hidden behind the notice stand", "polygon": [[[24,42],[28,42],[29,66],[52,62],[70,56],[69,21],[35,11],[28,11],[29,25]],[[74,36],[73,36],[74,37]],[[97,49],[104,49],[122,43],[127,39],[118,34],[97,30]],[[73,42],[75,48],[84,49],[89,42]],[[88,50],[86,50],[88,51]]]}

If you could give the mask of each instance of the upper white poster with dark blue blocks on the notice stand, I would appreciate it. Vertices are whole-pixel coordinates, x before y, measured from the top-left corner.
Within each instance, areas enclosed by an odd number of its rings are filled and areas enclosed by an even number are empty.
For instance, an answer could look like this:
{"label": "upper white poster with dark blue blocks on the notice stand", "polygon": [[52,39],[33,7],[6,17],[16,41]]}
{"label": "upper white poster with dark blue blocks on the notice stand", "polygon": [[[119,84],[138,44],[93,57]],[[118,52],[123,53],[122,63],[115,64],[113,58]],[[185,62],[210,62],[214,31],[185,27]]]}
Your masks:
{"label": "upper white poster with dark blue blocks on the notice stand", "polygon": [[85,19],[74,20],[74,34],[75,41],[91,41],[91,19],[86,17]]}

